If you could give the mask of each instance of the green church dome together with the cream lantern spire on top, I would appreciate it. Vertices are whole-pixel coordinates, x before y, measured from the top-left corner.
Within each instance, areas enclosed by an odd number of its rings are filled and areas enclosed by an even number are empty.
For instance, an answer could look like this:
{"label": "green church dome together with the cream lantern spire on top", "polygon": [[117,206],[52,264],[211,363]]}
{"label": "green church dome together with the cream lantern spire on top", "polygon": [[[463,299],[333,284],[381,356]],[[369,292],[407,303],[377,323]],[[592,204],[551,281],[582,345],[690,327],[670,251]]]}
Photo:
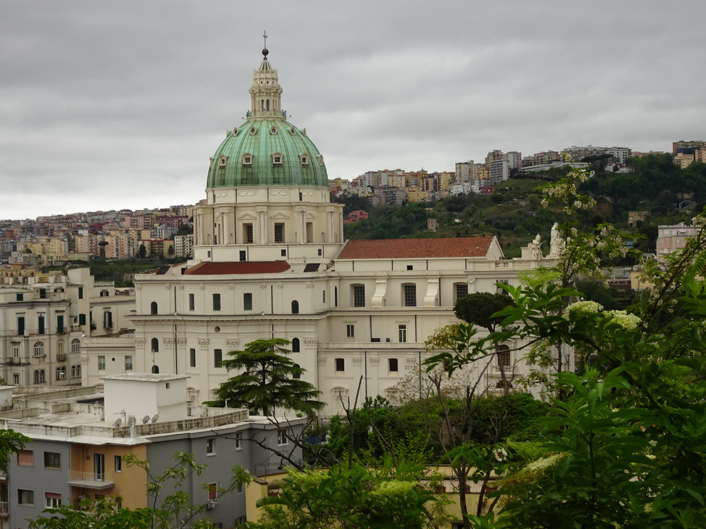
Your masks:
{"label": "green church dome together with the cream lantern spire on top", "polygon": [[207,189],[239,186],[316,186],[328,188],[323,157],[306,129],[287,123],[282,87],[267,59],[253,72],[251,110],[241,126],[229,130],[211,158]]}

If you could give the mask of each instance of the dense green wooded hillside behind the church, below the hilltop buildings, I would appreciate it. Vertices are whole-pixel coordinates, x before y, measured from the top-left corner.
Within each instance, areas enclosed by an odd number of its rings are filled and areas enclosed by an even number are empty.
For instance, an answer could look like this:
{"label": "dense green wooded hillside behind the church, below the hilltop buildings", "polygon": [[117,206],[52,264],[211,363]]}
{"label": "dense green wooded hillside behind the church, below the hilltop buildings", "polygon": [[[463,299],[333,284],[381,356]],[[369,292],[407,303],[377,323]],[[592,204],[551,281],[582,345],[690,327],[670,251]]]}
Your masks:
{"label": "dense green wooded hillside behind the church, below the hilltop buildings", "polygon": [[[691,164],[687,169],[672,162],[671,154],[630,158],[632,174],[597,171],[582,191],[597,204],[583,211],[583,229],[610,222],[626,233],[635,233],[636,246],[654,251],[657,226],[689,223],[706,203],[706,164]],[[366,205],[360,197],[344,197],[345,212],[365,209],[368,220],[346,224],[346,238],[465,237],[496,235],[508,257],[519,255],[537,233],[549,237],[558,211],[542,207],[542,188],[566,174],[552,169],[545,174],[522,175],[496,186],[491,196],[457,195],[439,202],[398,205]],[[541,180],[539,178],[546,178]],[[628,226],[628,212],[647,212],[645,221]],[[426,229],[427,219],[437,219],[438,233]]]}

